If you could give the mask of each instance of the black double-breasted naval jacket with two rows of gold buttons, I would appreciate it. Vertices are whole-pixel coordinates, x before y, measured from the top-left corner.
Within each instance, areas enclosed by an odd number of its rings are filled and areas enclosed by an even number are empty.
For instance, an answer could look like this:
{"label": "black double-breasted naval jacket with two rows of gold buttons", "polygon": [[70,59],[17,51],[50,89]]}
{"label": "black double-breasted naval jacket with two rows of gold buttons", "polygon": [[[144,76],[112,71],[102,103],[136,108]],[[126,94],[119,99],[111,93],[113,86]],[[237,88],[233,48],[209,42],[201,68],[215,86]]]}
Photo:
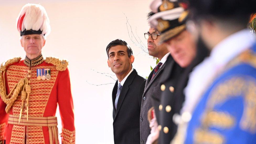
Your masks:
{"label": "black double-breasted naval jacket with two rows of gold buttons", "polygon": [[[158,125],[161,125],[158,143],[170,143],[170,140],[177,132],[177,125],[174,124],[172,118],[175,113],[179,113],[182,103],[184,102],[184,95],[177,95],[180,89],[179,84],[183,83],[181,79],[184,76],[184,68],[181,68],[176,63],[172,56],[167,59],[168,66],[165,68],[161,79],[161,98],[154,99],[154,106],[157,116]],[[185,78],[186,79],[186,78]],[[185,80],[187,81],[187,80]],[[157,114],[158,113],[158,114]],[[163,137],[167,140],[163,140]],[[168,142],[169,141],[169,142]]]}

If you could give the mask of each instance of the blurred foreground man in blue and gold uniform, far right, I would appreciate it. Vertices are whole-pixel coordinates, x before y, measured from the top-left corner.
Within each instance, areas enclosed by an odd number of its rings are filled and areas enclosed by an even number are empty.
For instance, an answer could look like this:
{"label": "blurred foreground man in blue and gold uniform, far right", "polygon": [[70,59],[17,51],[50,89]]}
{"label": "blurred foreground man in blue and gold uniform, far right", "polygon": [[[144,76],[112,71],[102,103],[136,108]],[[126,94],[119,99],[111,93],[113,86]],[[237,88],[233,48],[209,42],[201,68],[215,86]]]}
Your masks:
{"label": "blurred foreground man in blue and gold uniform, far right", "polygon": [[195,32],[211,54],[189,78],[182,108],[186,119],[175,137],[179,142],[255,143],[256,45],[247,29],[255,4],[190,1]]}

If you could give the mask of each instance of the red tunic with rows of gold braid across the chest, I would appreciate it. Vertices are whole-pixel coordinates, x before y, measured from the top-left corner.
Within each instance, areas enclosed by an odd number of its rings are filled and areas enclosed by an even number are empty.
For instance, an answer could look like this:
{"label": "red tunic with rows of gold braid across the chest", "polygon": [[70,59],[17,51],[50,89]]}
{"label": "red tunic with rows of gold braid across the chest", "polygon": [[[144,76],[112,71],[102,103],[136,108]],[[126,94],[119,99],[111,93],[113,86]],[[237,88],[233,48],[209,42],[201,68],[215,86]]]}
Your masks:
{"label": "red tunic with rows of gold braid across the chest", "polygon": [[[26,60],[26,59],[25,59]],[[27,60],[26,60],[27,61]],[[34,60],[33,60],[34,61]],[[36,62],[36,61],[35,61]],[[70,78],[68,69],[58,71],[56,66],[51,63],[46,63],[42,60],[31,68],[25,65],[24,60],[13,63],[8,66],[5,73],[5,82],[7,94],[17,84],[20,79],[28,77],[31,93],[29,95],[29,117],[50,117],[55,116],[57,104],[59,105],[61,120],[62,120],[62,143],[75,142],[75,127],[74,127],[74,113],[73,100],[71,95]],[[38,80],[37,69],[50,68],[50,80]],[[28,70],[31,70],[31,74]],[[29,76],[30,77],[30,76]],[[1,84],[1,83],[0,83]],[[8,117],[10,115],[19,116],[22,105],[21,95],[19,94],[15,100],[10,113],[5,111],[6,104],[0,99],[0,143],[1,140],[6,139],[6,144],[9,143],[55,143],[50,142],[52,136],[49,135],[48,126],[27,126],[19,124],[8,124]],[[26,119],[26,106],[22,111],[22,119]],[[10,121],[10,119],[9,119]],[[7,126],[4,130],[5,125]],[[54,127],[57,128],[57,127]],[[54,139],[54,138],[52,138]]]}

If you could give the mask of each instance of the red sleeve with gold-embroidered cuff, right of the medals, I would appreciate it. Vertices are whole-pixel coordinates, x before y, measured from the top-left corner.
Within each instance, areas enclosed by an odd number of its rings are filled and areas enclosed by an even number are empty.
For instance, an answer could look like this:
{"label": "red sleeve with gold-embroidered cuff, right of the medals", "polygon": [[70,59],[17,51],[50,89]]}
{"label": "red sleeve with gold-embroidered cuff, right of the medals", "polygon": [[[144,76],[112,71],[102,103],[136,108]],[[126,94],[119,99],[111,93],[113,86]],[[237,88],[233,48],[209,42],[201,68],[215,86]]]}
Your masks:
{"label": "red sleeve with gold-embroidered cuff, right of the medals", "polygon": [[62,143],[75,143],[74,106],[68,68],[59,71],[57,99],[62,120]]}

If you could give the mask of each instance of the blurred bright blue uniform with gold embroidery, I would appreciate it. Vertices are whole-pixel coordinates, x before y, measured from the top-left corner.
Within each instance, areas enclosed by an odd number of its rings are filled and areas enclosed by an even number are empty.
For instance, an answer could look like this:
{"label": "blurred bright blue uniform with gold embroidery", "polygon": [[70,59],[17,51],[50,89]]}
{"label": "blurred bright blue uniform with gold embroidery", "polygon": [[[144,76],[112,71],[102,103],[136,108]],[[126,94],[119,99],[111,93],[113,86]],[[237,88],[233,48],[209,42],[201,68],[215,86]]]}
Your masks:
{"label": "blurred bright blue uniform with gold embroidery", "polygon": [[185,143],[256,143],[256,44],[228,63],[206,90]]}

